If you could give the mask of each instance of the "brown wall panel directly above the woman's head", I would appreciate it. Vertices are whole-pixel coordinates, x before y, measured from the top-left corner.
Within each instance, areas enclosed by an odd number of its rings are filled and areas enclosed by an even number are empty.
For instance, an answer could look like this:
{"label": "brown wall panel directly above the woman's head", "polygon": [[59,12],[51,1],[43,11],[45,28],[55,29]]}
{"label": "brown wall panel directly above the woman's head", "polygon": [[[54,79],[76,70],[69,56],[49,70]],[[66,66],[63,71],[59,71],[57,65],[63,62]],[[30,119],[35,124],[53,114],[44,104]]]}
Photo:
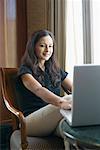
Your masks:
{"label": "brown wall panel directly above the woman's head", "polygon": [[39,29],[48,26],[48,0],[27,0],[27,29],[28,37]]}

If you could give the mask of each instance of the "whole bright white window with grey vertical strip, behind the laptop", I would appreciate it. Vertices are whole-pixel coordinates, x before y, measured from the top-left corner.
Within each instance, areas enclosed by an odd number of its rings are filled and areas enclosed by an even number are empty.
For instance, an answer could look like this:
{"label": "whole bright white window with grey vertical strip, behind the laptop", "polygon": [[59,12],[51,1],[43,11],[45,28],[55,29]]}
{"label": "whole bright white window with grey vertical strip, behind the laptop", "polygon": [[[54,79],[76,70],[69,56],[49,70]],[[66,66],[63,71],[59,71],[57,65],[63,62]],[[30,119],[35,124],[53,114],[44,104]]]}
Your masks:
{"label": "whole bright white window with grey vertical strip, behind the laptop", "polygon": [[73,65],[100,64],[100,1],[67,0],[66,70],[70,78]]}

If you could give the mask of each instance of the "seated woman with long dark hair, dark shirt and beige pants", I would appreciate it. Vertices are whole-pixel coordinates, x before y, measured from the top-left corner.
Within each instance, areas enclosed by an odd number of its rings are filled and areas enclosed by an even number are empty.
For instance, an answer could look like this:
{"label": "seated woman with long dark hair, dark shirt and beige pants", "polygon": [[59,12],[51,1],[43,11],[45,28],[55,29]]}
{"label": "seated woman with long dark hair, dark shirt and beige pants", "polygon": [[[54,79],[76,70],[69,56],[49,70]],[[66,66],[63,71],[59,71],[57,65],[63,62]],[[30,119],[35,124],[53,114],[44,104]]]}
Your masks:
{"label": "seated woman with long dark hair, dark shirt and beige pants", "polygon": [[27,135],[47,136],[57,131],[62,119],[59,109],[71,109],[71,101],[60,96],[61,87],[67,93],[72,91],[67,75],[57,64],[53,34],[35,32],[27,43],[17,81]]}

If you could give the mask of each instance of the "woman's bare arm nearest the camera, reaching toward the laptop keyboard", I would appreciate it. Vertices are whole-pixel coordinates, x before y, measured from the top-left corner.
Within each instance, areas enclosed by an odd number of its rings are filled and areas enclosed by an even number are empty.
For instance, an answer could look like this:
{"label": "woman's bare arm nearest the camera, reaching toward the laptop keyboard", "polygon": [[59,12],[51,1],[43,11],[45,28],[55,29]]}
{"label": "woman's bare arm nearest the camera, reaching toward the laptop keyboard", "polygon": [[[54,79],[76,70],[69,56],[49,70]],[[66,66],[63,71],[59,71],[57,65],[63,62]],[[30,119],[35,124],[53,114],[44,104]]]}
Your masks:
{"label": "woman's bare arm nearest the camera, reaching toward the laptop keyboard", "polygon": [[24,86],[38,97],[59,108],[70,109],[71,103],[43,87],[31,74],[21,76]]}

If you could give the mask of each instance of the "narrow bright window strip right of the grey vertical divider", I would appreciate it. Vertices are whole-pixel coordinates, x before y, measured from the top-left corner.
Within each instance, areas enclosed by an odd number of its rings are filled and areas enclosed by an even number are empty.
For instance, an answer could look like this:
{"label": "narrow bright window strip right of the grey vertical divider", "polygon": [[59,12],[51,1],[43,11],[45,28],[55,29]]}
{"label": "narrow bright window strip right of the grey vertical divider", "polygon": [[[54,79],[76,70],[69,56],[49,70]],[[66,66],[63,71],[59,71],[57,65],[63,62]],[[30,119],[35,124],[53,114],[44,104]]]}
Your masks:
{"label": "narrow bright window strip right of the grey vertical divider", "polygon": [[100,1],[92,0],[92,41],[93,41],[93,63],[100,64]]}

